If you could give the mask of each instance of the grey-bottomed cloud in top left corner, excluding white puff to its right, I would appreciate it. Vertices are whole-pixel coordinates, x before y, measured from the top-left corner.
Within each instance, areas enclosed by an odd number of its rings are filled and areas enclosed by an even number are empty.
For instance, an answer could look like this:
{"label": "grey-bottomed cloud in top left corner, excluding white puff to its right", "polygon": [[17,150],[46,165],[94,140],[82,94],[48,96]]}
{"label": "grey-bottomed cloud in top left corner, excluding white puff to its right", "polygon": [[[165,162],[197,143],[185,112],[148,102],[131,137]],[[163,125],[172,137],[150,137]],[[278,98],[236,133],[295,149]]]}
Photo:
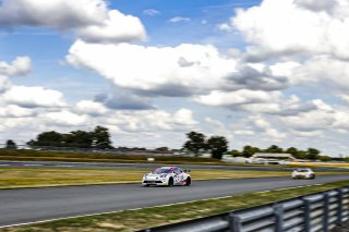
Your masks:
{"label": "grey-bottomed cloud in top left corner, excluding white puff to its right", "polygon": [[3,0],[0,24],[47,26],[58,29],[99,24],[107,17],[104,0]]}

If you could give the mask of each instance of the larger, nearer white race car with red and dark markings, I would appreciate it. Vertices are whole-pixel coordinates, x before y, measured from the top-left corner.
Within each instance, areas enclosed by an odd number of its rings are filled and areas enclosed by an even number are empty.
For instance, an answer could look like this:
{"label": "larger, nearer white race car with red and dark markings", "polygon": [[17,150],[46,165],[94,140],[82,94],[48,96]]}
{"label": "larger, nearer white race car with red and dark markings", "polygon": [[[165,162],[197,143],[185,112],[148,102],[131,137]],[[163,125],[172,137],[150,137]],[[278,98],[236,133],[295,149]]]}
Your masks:
{"label": "larger, nearer white race car with red and dark markings", "polygon": [[178,167],[157,168],[142,179],[142,186],[149,185],[186,185],[192,183],[191,175]]}

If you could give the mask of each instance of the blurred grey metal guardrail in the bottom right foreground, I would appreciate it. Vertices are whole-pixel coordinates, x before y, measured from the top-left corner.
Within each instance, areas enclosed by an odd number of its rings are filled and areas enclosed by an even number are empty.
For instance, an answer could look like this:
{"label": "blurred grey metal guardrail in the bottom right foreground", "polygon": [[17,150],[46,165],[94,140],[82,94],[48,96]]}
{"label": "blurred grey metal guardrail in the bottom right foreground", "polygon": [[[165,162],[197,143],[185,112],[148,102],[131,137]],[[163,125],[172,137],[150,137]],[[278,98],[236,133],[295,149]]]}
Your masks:
{"label": "blurred grey metal guardrail in the bottom right foreground", "polygon": [[143,232],[328,232],[349,220],[349,186]]}

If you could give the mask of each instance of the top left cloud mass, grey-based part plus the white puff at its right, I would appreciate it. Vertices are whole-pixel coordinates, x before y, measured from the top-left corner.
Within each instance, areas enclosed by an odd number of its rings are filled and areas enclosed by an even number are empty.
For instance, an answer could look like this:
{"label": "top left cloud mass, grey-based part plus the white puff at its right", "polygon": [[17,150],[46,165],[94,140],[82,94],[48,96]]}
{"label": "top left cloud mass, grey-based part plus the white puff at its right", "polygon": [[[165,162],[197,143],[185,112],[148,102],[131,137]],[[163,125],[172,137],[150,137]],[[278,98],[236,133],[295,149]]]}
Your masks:
{"label": "top left cloud mass, grey-based part plus the white puff at its right", "polygon": [[110,10],[105,0],[3,0],[0,25],[73,30],[88,42],[144,40],[139,17]]}

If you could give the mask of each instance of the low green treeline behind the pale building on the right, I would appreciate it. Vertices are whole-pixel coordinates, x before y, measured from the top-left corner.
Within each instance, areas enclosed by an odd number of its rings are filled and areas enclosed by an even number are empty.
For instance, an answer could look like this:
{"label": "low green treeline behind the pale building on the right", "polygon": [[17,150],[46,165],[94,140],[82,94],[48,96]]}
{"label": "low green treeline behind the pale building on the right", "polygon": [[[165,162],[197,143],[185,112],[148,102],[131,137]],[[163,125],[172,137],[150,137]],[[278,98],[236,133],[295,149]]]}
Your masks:
{"label": "low green treeline behind the pale building on the right", "polygon": [[311,159],[311,160],[322,160],[329,161],[332,158],[328,156],[321,156],[321,150],[315,148],[308,148],[306,150],[301,150],[296,147],[281,148],[276,145],[272,145],[266,149],[262,149],[253,146],[244,146],[242,151],[231,150],[229,154],[234,157],[245,157],[249,158],[256,152],[268,152],[268,154],[291,154],[297,159]]}

